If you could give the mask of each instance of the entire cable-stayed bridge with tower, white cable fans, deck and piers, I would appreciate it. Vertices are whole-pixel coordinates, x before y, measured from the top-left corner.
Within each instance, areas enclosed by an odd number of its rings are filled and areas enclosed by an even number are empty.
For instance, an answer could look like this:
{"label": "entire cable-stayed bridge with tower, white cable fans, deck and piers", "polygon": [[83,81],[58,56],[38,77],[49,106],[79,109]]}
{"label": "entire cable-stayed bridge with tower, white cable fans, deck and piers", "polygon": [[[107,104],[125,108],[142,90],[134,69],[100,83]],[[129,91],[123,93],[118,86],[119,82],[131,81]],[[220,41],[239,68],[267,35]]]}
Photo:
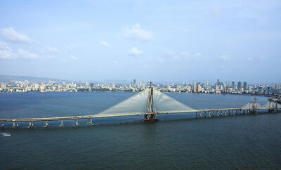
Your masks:
{"label": "entire cable-stayed bridge with tower, white cable fans, deck and piers", "polygon": [[19,125],[19,122],[29,122],[30,127],[33,126],[33,122],[45,122],[45,126],[48,126],[50,121],[60,121],[60,126],[63,126],[63,121],[74,120],[75,126],[78,126],[79,119],[89,119],[89,125],[93,125],[93,119],[101,117],[122,117],[143,115],[145,122],[157,121],[157,115],[159,114],[172,114],[172,113],[190,113],[195,114],[195,117],[226,117],[234,115],[247,115],[256,114],[259,110],[262,112],[280,112],[281,111],[281,99],[270,98],[266,105],[259,105],[254,101],[243,105],[238,108],[216,108],[216,109],[202,109],[196,110],[188,105],[185,105],[174,98],[167,96],[157,89],[153,88],[150,84],[150,88],[145,89],[137,93],[126,100],[117,103],[107,110],[100,112],[96,115],[81,115],[74,117],[48,117],[48,118],[25,118],[25,119],[0,119],[2,127],[4,123],[13,122],[13,127]]}

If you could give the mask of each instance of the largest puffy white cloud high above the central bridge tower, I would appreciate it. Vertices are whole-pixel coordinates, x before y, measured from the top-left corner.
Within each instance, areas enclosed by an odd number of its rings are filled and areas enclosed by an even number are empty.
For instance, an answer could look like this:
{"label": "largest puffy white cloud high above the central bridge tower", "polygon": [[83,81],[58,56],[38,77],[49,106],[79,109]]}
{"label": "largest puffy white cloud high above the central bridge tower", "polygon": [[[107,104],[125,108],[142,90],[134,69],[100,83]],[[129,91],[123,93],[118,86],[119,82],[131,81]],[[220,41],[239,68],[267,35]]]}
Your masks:
{"label": "largest puffy white cloud high above the central bridge tower", "polygon": [[142,29],[138,23],[131,29],[127,29],[124,36],[137,41],[150,41],[153,39],[152,32]]}

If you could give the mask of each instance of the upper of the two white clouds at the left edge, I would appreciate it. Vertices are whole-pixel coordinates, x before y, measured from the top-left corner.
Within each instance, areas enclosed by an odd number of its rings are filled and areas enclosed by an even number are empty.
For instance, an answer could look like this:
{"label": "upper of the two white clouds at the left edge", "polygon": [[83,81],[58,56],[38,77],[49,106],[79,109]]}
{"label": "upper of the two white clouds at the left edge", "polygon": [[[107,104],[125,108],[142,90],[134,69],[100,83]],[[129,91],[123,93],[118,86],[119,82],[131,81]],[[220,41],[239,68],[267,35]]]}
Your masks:
{"label": "upper of the two white clouds at the left edge", "polygon": [[25,34],[20,34],[16,32],[13,27],[2,28],[0,30],[1,36],[5,39],[13,42],[20,42],[20,43],[32,43],[34,40],[27,37]]}

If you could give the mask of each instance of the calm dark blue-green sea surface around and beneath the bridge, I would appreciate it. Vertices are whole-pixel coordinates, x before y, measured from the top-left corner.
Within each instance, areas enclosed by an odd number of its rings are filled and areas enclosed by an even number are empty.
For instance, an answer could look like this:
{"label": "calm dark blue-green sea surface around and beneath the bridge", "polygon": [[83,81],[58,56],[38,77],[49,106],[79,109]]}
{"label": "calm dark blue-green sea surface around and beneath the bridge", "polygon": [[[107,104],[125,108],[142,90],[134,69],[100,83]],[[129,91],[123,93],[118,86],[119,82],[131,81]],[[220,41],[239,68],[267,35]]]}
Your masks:
{"label": "calm dark blue-green sea surface around and beneath the bridge", "polygon": [[[0,93],[0,118],[99,113],[135,93]],[[253,96],[166,93],[195,109],[241,107]],[[267,98],[259,97],[264,105]],[[0,129],[0,169],[281,169],[281,114],[195,119],[195,114],[60,122]]]}

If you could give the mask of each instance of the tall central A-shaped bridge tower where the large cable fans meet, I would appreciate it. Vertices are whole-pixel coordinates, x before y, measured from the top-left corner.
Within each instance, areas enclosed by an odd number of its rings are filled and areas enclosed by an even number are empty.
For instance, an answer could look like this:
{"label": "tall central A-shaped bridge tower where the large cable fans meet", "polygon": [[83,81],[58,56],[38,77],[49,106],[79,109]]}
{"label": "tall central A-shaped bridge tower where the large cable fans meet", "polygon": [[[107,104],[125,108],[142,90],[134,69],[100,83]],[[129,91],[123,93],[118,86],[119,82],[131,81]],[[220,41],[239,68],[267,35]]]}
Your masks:
{"label": "tall central A-shaped bridge tower where the large cable fans meet", "polygon": [[150,87],[148,89],[148,101],[145,107],[145,117],[144,121],[157,121],[157,112],[155,108],[155,102],[153,98],[153,88],[151,86],[152,82],[150,82]]}

